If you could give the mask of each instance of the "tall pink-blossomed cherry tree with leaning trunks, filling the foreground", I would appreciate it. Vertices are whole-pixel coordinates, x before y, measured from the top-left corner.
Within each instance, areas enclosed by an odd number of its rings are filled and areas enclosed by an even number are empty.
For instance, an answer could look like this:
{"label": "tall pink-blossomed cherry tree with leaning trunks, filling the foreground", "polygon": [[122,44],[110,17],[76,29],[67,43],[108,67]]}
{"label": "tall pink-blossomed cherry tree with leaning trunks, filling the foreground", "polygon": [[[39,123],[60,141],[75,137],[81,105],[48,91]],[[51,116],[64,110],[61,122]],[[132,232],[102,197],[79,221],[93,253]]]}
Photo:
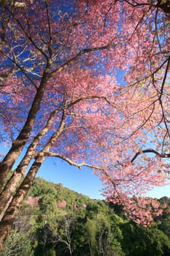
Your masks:
{"label": "tall pink-blossomed cherry tree with leaning trunks, filling the foreground", "polygon": [[169,178],[169,1],[0,8],[0,248],[46,157],[93,168],[108,200],[152,222],[144,193]]}

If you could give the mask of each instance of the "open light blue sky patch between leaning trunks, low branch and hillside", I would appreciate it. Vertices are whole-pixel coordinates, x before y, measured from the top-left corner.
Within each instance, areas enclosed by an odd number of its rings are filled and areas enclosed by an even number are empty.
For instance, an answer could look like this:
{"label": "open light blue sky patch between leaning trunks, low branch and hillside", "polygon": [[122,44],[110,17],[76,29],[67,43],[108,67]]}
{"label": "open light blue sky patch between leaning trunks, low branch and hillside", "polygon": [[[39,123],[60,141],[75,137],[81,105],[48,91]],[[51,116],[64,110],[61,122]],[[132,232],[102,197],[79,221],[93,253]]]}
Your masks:
{"label": "open light blue sky patch between leaning trunks, low branch and hillside", "polygon": [[62,162],[61,159],[47,158],[37,176],[54,183],[62,183],[63,187],[91,198],[104,198],[101,196],[101,181],[88,167],[82,167],[80,170]]}

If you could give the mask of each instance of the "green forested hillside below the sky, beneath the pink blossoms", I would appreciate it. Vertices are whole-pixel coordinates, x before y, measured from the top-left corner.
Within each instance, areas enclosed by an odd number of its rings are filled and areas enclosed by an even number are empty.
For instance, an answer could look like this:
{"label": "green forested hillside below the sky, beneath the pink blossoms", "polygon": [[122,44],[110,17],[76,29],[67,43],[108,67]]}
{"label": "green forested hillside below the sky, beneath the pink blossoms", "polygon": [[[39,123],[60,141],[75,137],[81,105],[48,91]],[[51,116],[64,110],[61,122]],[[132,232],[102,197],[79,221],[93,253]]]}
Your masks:
{"label": "green forested hillside below the sky, beneath the pink blossoms", "polygon": [[170,255],[170,214],[142,227],[120,206],[36,178],[0,255]]}

